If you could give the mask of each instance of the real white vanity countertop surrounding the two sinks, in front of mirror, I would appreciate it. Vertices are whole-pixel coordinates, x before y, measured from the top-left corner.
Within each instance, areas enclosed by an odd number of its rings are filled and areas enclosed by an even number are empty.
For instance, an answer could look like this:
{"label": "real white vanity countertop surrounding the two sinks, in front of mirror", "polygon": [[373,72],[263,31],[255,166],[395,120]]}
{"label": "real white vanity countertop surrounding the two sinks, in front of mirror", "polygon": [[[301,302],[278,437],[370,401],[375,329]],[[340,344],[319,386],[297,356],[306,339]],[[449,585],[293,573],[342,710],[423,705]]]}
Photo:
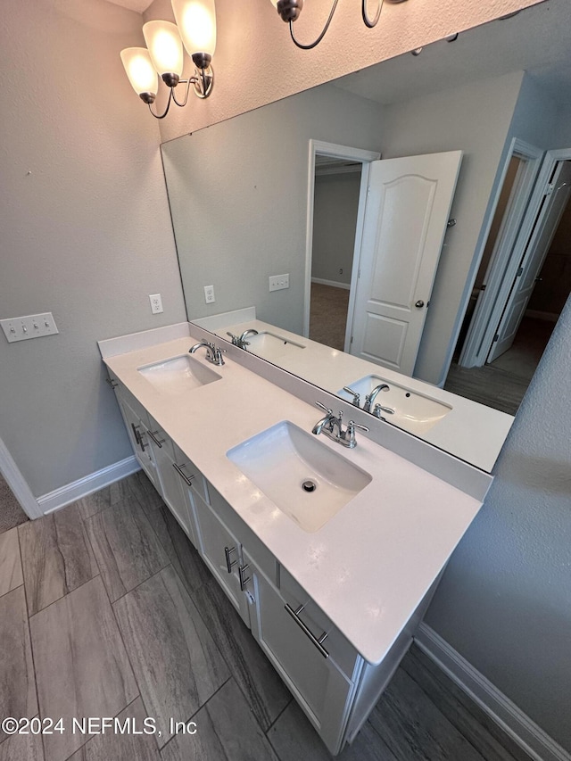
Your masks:
{"label": "real white vanity countertop surrounding the two sinks, in front of mirror", "polygon": [[[109,356],[137,345],[128,336],[114,341],[103,342],[113,346],[104,360],[112,374],[363,658],[370,663],[385,658],[476,516],[480,501],[369,441],[366,434],[358,433],[353,450],[320,436],[325,446],[367,471],[372,481],[319,531],[308,534],[243,476],[226,452],[282,420],[309,432],[319,409],[231,359],[215,368],[221,380],[180,396],[161,394],[137,368],[186,354],[194,340],[186,335]],[[203,351],[194,357],[213,368]]]}

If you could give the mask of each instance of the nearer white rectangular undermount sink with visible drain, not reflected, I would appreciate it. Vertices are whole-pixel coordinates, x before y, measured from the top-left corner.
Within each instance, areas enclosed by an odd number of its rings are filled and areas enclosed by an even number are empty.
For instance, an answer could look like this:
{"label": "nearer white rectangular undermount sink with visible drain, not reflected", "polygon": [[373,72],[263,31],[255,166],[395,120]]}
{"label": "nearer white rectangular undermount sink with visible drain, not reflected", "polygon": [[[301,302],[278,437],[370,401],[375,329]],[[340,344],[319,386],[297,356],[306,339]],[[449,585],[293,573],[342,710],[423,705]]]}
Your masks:
{"label": "nearer white rectangular undermount sink with visible drain, not reflected", "polygon": [[360,467],[282,421],[227,452],[228,459],[304,531],[318,531],[371,481]]}

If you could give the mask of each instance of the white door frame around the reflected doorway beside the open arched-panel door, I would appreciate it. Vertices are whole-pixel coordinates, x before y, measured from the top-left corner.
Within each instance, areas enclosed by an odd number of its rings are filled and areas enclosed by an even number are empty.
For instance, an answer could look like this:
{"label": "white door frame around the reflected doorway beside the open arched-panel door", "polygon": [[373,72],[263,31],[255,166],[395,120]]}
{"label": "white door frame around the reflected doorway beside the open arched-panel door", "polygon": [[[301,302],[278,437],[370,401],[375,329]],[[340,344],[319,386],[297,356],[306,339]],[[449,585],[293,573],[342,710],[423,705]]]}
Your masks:
{"label": "white door frame around the reflected doorway beside the open arched-panel door", "polygon": [[[323,153],[335,159],[346,161],[359,161],[362,164],[360,174],[359,207],[357,211],[357,226],[355,228],[355,245],[353,248],[351,290],[349,292],[349,309],[347,315],[352,314],[354,302],[353,278],[356,278],[356,264],[359,261],[360,241],[363,231],[363,219],[365,219],[365,203],[367,201],[368,164],[377,161],[381,154],[376,151],[365,151],[361,148],[351,148],[348,145],[335,145],[335,143],[323,143],[320,140],[310,140],[309,166],[307,178],[307,227],[305,232],[305,293],[303,296],[303,335],[310,335],[310,302],[311,302],[311,258],[313,254],[313,200],[315,193],[315,154]],[[349,318],[347,318],[349,324]],[[350,336],[351,338],[351,336]],[[345,351],[347,351],[347,337],[345,336]]]}

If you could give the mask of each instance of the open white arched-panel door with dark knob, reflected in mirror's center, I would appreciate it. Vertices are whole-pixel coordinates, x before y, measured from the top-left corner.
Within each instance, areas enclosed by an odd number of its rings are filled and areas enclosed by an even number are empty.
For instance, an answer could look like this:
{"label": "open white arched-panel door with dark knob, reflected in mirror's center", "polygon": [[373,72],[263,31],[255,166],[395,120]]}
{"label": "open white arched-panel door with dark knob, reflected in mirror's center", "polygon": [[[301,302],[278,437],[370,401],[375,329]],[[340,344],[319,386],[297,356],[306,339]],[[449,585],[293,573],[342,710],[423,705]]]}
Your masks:
{"label": "open white arched-panel door with dark knob, reflected in mirror's center", "polygon": [[461,151],[370,165],[351,353],[411,376]]}

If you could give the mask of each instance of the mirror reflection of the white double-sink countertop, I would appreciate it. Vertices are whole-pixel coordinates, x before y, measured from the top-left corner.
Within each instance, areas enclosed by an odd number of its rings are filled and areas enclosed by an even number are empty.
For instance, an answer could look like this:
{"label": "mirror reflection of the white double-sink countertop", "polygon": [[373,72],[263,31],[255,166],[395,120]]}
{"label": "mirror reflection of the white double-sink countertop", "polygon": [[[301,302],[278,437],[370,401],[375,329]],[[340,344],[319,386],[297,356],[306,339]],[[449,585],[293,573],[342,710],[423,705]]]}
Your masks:
{"label": "mirror reflection of the white double-sink countertop", "polygon": [[[236,319],[240,318],[240,311],[236,311]],[[352,354],[331,349],[323,343],[311,341],[302,335],[290,333],[281,327],[269,325],[256,318],[236,323],[224,320],[223,315],[217,316],[218,323],[209,328],[209,319],[198,320],[198,324],[211,329],[216,335],[228,341],[227,331],[235,335],[241,335],[244,330],[253,328],[259,333],[269,332],[283,335],[288,341],[300,343],[305,348],[296,349],[287,347],[283,351],[264,353],[264,359],[273,362],[278,367],[294,373],[294,375],[309,380],[310,383],[324,388],[330,393],[337,393],[344,385],[352,385],[360,378],[368,375],[381,376],[388,384],[402,385],[411,392],[422,394],[436,401],[442,401],[451,407],[451,411],[430,430],[419,434],[429,443],[434,444],[444,451],[465,460],[466,462],[480,467],[487,473],[500,454],[501,447],[509,433],[514,418],[498,409],[486,407],[476,401],[465,399],[455,393],[444,391],[438,386],[410,376],[403,376],[389,368],[381,367]],[[392,422],[388,418],[388,422]],[[414,433],[414,431],[411,431]]]}

